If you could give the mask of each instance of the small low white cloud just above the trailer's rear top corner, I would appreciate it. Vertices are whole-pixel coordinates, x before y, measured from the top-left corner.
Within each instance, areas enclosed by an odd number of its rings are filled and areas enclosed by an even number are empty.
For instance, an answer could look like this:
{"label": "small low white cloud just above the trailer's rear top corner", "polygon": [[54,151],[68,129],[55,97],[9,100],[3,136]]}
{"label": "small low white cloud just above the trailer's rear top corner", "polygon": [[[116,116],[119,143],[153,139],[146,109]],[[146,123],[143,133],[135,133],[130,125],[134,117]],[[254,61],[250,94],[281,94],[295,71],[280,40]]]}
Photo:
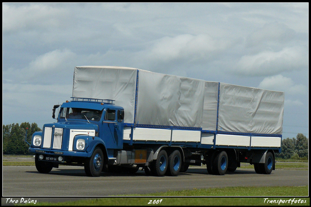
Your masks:
{"label": "small low white cloud just above the trailer's rear top corner", "polygon": [[264,78],[258,86],[259,88],[284,91],[285,94],[307,94],[308,88],[302,84],[295,85],[291,78],[282,75],[275,75]]}

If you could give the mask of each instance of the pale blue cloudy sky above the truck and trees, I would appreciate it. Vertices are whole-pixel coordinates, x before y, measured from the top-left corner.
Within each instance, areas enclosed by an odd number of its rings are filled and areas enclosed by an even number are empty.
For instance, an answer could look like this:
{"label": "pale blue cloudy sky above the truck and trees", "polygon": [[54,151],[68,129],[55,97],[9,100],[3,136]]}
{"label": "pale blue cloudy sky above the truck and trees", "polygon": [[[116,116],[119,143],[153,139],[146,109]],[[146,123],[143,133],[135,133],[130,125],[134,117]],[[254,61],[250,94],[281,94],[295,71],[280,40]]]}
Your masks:
{"label": "pale blue cloudy sky above the truck and trees", "polygon": [[309,3],[2,3],[2,122],[55,122],[76,66],[284,91],[309,138]]}

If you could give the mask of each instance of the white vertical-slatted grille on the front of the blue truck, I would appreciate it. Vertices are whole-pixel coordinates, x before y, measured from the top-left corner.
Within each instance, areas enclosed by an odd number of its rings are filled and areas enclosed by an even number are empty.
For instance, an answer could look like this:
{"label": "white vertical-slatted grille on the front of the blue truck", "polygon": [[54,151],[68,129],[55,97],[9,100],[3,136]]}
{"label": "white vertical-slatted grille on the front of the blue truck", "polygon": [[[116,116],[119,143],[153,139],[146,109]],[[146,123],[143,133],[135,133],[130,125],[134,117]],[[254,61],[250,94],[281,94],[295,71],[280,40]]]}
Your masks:
{"label": "white vertical-slatted grille on the front of the blue truck", "polygon": [[52,149],[61,149],[63,141],[63,129],[62,128],[54,128],[54,132],[52,127],[44,128],[44,139],[43,139],[43,148],[51,148],[51,143],[53,142]]}

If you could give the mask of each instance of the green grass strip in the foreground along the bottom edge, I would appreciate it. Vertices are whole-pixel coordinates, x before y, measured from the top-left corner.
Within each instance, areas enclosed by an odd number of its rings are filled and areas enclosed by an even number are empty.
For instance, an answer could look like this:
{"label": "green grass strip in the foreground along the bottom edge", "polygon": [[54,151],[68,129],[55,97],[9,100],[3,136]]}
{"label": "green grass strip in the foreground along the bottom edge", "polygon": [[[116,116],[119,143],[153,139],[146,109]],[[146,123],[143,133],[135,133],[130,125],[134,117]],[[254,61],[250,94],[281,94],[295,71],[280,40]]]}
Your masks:
{"label": "green grass strip in the foreground along the bottom edge", "polygon": [[[260,197],[249,197],[258,196]],[[134,197],[136,196],[136,197]],[[192,197],[185,197],[192,196]],[[193,197],[196,196],[196,197]],[[202,197],[198,197],[202,196]],[[221,197],[212,197],[221,196]],[[229,197],[230,196],[230,197]],[[280,196],[291,196],[281,197]],[[295,197],[297,196],[297,197]],[[308,186],[303,187],[227,187],[122,195],[69,202],[38,202],[30,206],[310,206]],[[57,198],[55,198],[57,200]],[[292,200],[290,200],[292,199]],[[289,202],[296,201],[290,204]],[[300,199],[300,201],[299,201]],[[305,203],[297,203],[297,202]],[[148,204],[151,202],[151,204]],[[155,202],[155,204],[153,204]],[[156,204],[156,202],[158,204]],[[275,203],[273,203],[275,202]],[[284,202],[284,203],[282,203]],[[287,204],[285,203],[287,202]]]}

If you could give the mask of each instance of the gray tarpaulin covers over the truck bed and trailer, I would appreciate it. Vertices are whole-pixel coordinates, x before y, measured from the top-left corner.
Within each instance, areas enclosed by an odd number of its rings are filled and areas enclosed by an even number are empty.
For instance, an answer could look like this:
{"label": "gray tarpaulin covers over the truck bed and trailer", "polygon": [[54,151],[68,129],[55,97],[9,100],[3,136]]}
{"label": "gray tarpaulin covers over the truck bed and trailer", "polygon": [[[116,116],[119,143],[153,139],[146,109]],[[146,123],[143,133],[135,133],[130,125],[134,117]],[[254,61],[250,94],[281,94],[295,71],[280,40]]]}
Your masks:
{"label": "gray tarpaulin covers over the truck bed and trailer", "polygon": [[284,93],[278,91],[134,68],[82,66],[74,69],[72,97],[116,100],[125,110],[125,123],[134,123],[136,116],[136,124],[216,131],[219,107],[219,131],[282,134]]}

